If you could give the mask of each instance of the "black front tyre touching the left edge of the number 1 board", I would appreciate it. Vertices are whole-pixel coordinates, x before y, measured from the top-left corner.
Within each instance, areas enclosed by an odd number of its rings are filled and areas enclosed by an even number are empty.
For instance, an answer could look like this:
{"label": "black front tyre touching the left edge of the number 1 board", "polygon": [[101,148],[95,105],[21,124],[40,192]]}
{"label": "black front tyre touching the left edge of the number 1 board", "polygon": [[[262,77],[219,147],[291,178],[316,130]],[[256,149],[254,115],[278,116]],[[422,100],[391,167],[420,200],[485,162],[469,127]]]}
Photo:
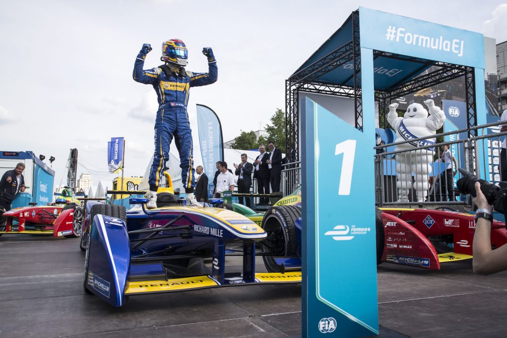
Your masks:
{"label": "black front tyre touching the left edge of the number 1 board", "polygon": [[[296,238],[296,220],[301,217],[301,208],[294,205],[276,206],[269,209],[262,219],[261,227],[268,236],[261,241],[263,253],[276,254],[278,257],[298,255]],[[282,272],[275,256],[263,256],[268,272]]]}

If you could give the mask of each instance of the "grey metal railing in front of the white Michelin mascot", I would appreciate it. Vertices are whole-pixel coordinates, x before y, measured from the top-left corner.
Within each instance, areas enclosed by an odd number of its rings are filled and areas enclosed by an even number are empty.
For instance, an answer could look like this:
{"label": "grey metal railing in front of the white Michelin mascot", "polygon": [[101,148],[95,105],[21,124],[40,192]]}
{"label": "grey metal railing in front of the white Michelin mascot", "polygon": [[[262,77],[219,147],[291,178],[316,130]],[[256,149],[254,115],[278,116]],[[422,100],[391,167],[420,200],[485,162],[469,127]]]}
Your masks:
{"label": "grey metal railing in front of the white Michelin mascot", "polygon": [[[501,138],[507,134],[499,132],[498,126],[503,123],[495,122],[470,128],[476,130],[479,136],[462,140],[459,135],[466,135],[466,129],[376,146],[377,151],[396,146],[394,151],[375,155],[376,202],[379,206],[472,207],[471,201],[456,191],[456,180],[460,177],[456,169],[463,168],[479,178],[493,183],[499,182],[502,166],[507,173],[507,164],[500,163]],[[492,133],[487,133],[488,128]],[[451,141],[408,148],[408,143],[419,145],[421,140],[444,136]],[[457,167],[452,157],[451,163],[445,160],[445,146],[451,150]],[[503,157],[505,158],[505,154]],[[433,161],[429,161],[430,159]]]}

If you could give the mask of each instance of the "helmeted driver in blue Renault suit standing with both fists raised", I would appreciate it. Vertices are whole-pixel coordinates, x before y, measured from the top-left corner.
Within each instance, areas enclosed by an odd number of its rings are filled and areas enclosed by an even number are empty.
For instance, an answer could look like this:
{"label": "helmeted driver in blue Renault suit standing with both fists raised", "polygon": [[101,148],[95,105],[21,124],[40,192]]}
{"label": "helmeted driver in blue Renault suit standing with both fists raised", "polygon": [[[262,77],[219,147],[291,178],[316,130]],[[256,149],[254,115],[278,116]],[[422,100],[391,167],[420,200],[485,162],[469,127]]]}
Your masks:
{"label": "helmeted driver in blue Renault suit standing with both fists raised", "polygon": [[134,81],[149,84],[157,92],[159,108],[155,120],[155,154],[148,183],[147,207],[157,207],[157,189],[162,178],[165,163],[169,159],[169,146],[175,137],[179,152],[182,182],[187,194],[187,205],[198,206],[194,196],[195,169],[193,158],[192,130],[187,114],[190,87],[206,86],[216,82],[218,68],[211,48],[202,53],[208,58],[207,73],[193,73],[185,70],[188,61],[187,47],[183,41],[171,39],[162,44],[161,61],[164,64],[143,70],[144,59],[152,50],[149,44],[142,45],[134,63]]}

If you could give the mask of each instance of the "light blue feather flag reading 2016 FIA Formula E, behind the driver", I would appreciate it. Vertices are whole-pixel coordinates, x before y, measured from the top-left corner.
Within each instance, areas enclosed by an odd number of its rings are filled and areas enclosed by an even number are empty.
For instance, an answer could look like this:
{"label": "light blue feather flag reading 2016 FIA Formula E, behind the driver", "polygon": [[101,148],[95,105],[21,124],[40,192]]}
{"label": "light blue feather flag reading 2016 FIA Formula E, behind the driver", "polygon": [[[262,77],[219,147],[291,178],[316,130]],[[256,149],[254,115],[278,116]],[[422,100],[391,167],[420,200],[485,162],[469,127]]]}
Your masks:
{"label": "light blue feather flag reading 2016 FIA Formula E, behind the driver", "polygon": [[[216,171],[215,163],[224,159],[222,125],[215,112],[205,105],[197,105],[197,126],[201,145],[202,166],[208,177]],[[209,180],[208,196],[213,194],[213,180]]]}

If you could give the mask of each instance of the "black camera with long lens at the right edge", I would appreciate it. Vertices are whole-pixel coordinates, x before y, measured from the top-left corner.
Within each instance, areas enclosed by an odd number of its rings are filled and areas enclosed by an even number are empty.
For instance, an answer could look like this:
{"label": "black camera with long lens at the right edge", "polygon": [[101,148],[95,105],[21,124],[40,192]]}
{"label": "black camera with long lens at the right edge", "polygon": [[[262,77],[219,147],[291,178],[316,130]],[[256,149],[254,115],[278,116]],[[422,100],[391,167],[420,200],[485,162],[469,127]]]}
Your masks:
{"label": "black camera with long lens at the right edge", "polygon": [[[505,215],[507,211],[507,189],[501,189],[498,185],[484,179],[478,179],[474,174],[464,169],[459,168],[458,170],[461,175],[463,175],[463,177],[456,182],[460,193],[470,194],[476,197],[475,182],[479,182],[481,183],[481,191],[486,197],[486,200],[488,200],[488,203],[493,206],[493,209]],[[507,219],[507,215],[505,219]]]}

